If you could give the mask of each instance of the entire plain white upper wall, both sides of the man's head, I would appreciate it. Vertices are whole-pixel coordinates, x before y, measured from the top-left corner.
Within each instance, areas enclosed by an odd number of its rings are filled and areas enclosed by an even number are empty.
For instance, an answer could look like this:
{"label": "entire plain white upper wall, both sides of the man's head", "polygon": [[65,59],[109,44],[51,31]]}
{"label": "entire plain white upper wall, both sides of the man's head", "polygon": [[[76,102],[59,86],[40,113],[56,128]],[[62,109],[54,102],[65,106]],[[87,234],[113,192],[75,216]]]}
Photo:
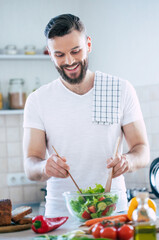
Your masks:
{"label": "entire plain white upper wall, both sides of the man's head", "polygon": [[[51,17],[73,13],[92,37],[90,68],[128,79],[134,86],[156,84],[159,70],[158,0],[0,0],[0,48],[45,46],[44,28]],[[58,74],[48,61],[0,61],[0,80],[23,77],[31,89]]]}

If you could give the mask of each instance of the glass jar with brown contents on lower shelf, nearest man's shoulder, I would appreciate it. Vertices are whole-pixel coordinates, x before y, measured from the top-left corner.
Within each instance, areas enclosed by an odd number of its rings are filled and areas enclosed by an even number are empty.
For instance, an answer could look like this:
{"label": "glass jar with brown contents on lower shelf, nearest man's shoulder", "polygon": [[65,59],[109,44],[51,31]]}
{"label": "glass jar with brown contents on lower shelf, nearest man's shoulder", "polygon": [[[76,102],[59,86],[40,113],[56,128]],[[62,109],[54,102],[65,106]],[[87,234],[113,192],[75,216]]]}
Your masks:
{"label": "glass jar with brown contents on lower shelf, nearest man's shoulder", "polygon": [[13,78],[9,81],[9,108],[23,109],[26,101],[24,79]]}

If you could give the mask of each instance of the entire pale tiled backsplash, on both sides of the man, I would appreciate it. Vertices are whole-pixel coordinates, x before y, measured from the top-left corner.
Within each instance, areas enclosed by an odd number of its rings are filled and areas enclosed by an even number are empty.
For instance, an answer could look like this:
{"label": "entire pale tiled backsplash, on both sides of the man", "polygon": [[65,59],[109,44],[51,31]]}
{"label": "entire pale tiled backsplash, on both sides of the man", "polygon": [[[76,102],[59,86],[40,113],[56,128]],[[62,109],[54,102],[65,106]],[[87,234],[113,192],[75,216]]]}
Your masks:
{"label": "entire pale tiled backsplash, on both sides of the man", "polygon": [[[137,87],[136,91],[146,123],[152,161],[159,157],[159,85]],[[0,199],[10,198],[14,204],[44,200],[44,192],[40,189],[45,183],[7,185],[7,173],[24,171],[22,122],[23,115],[0,115]],[[149,166],[125,174],[127,188],[150,188]]]}

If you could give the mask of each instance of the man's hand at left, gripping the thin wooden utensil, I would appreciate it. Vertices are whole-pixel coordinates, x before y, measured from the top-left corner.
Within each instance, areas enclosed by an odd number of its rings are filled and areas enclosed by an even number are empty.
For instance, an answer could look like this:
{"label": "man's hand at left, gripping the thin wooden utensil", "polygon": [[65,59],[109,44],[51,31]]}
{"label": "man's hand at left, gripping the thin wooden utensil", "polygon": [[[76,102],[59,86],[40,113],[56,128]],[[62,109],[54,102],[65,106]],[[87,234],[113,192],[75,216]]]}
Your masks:
{"label": "man's hand at left, gripping the thin wooden utensil", "polygon": [[57,157],[56,154],[52,154],[47,160],[44,166],[44,174],[47,177],[66,178],[68,177],[69,166],[66,164],[66,158]]}

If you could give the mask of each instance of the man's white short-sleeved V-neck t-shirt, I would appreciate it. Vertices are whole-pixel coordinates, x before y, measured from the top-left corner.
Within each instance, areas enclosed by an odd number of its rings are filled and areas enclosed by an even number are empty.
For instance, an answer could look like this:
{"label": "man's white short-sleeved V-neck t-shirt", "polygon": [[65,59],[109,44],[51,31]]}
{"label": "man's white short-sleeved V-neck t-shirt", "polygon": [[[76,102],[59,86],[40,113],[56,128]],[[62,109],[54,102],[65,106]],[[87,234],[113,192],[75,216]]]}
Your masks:
{"label": "man's white short-sleeved V-neck t-shirt", "polygon": [[[98,125],[92,123],[93,89],[78,95],[67,89],[60,79],[40,87],[27,98],[24,110],[24,128],[45,131],[48,154],[52,145],[60,156],[65,156],[70,173],[80,188],[105,187],[108,169],[106,159],[113,156],[117,137],[123,138],[121,127],[142,118],[136,92],[132,85],[121,80],[120,123]],[[119,153],[122,153],[122,144]],[[71,178],[51,177],[47,181],[47,216],[62,215],[66,206],[62,193],[76,191]],[[111,190],[121,190],[118,211],[127,209],[126,188],[123,175],[112,180]]]}

